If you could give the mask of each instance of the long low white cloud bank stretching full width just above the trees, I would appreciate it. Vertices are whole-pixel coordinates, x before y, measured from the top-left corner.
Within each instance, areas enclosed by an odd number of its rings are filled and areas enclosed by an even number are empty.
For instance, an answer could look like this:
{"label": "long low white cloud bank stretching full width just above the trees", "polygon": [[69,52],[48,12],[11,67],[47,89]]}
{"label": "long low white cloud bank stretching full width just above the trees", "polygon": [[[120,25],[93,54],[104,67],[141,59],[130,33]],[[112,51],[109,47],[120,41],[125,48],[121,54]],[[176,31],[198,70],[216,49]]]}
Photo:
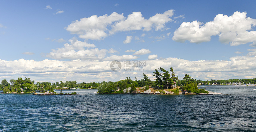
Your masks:
{"label": "long low white cloud bank stretching full width just above the trees", "polygon": [[[122,57],[132,57],[130,55]],[[118,56],[116,56],[118,60]],[[255,57],[237,56],[231,57],[229,61],[188,61],[178,58],[166,58],[156,60],[146,60],[146,66],[142,67],[145,71],[136,71],[140,69],[135,67],[135,71],[124,71],[124,62],[122,69],[118,72],[111,71],[109,61],[57,61],[57,60],[0,60],[0,76],[2,79],[13,79],[15,77],[31,77],[36,81],[65,81],[77,80],[78,82],[90,81],[116,81],[125,79],[125,77],[138,77],[142,79],[142,74],[149,75],[150,79],[154,69],[163,67],[164,69],[174,68],[175,74],[182,79],[184,74],[190,74],[196,79],[244,79],[254,78],[256,73]],[[100,75],[100,76],[99,76]],[[42,78],[47,76],[47,78]]]}

